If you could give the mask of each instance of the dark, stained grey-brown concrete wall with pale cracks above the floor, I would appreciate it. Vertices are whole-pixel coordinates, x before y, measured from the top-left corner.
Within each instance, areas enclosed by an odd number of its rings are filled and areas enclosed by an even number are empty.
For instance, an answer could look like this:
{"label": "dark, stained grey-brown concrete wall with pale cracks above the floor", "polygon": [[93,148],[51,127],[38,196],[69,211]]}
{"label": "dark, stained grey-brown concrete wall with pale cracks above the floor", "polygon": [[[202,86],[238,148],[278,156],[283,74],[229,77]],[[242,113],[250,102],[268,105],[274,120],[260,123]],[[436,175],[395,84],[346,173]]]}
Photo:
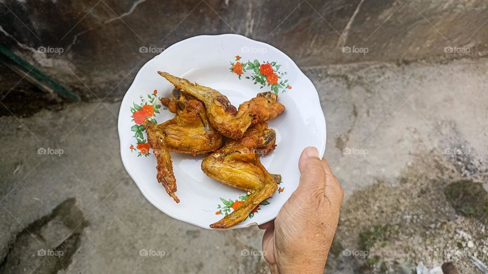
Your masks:
{"label": "dark, stained grey-brown concrete wall with pale cracks above the floor", "polygon": [[[359,6],[360,3],[360,6]],[[487,53],[485,1],[4,1],[0,43],[85,100],[119,100],[154,53],[202,34],[238,33],[300,67]],[[367,48],[348,54],[342,48]],[[62,53],[40,52],[60,48]],[[468,56],[445,47],[467,47]]]}

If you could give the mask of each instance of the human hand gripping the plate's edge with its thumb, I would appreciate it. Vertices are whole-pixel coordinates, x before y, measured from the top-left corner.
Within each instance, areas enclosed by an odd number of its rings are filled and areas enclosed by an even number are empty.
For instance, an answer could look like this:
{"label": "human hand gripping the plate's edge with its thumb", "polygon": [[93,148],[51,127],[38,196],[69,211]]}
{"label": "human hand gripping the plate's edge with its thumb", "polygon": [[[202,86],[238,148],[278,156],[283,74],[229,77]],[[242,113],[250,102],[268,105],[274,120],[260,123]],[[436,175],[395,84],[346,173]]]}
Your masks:
{"label": "human hand gripping the plate's edge with its thumb", "polygon": [[314,147],[298,161],[300,184],[275,220],[260,225],[271,273],[323,273],[344,191]]}

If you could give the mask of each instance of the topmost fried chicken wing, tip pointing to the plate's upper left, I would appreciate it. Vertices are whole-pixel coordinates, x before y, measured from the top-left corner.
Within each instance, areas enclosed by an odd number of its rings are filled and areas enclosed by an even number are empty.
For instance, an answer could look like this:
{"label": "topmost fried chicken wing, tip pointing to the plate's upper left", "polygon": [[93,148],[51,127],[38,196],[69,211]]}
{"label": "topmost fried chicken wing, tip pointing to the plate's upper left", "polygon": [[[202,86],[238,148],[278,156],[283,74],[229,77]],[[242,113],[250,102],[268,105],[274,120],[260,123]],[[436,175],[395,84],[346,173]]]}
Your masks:
{"label": "topmost fried chicken wing, tip pointing to the plate's upper left", "polygon": [[178,89],[202,101],[212,126],[232,139],[240,139],[250,126],[273,119],[285,110],[285,106],[277,101],[278,95],[273,92],[259,93],[251,100],[240,104],[237,110],[225,95],[215,89],[197,83],[192,84],[186,79],[165,72],[158,73]]}

